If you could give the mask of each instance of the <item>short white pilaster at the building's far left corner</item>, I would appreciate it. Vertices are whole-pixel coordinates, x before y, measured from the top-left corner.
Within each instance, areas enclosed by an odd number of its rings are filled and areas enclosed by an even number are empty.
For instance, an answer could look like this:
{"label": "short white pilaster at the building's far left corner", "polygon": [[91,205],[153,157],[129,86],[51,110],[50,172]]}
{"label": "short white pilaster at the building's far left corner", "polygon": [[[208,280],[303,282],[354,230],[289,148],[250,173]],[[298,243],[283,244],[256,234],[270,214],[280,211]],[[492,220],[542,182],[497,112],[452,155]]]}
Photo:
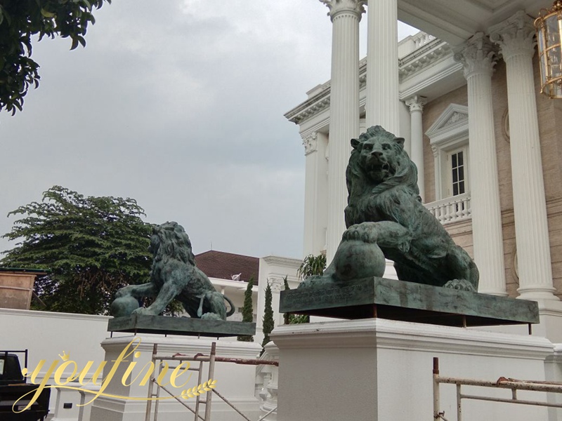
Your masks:
{"label": "short white pilaster at the building's far left corner", "polygon": [[319,255],[326,246],[328,176],[324,133],[303,136],[306,172],[304,182],[304,255]]}

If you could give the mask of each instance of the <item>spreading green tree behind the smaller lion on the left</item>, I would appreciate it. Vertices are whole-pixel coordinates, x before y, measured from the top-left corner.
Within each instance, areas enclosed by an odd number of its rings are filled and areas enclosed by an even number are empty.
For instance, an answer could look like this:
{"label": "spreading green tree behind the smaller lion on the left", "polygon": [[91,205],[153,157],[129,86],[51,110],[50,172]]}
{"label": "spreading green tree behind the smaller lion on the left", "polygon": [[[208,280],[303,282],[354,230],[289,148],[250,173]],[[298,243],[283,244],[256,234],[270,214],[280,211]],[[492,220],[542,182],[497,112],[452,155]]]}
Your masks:
{"label": "spreading green tree behind the smaller lion on the left", "polygon": [[20,242],[0,265],[50,269],[34,286],[48,311],[107,314],[118,288],[148,280],[151,225],[134,199],[54,186],[8,215],[22,215],[4,234]]}

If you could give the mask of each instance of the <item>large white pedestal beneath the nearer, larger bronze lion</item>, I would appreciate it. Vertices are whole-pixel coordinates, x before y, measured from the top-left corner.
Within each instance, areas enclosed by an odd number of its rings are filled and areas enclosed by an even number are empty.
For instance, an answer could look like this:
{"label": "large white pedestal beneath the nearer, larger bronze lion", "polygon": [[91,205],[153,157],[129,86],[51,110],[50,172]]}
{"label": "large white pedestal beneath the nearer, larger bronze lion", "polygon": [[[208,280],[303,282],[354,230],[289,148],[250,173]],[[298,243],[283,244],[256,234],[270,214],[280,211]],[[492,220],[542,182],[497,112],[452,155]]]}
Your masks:
{"label": "large white pedestal beneath the nearer, larger bronze lion", "polygon": [[[545,338],[419,323],[365,319],[288,325],[271,338],[280,349],[277,420],[433,419],[432,359],[440,374],[497,380],[545,380],[553,354]],[[456,416],[454,385],[441,385],[441,410]],[[509,390],[477,389],[511,397]],[[531,394],[531,395],[529,395]],[[519,392],[519,399],[543,399]],[[464,420],[547,420],[547,408],[462,401]]]}

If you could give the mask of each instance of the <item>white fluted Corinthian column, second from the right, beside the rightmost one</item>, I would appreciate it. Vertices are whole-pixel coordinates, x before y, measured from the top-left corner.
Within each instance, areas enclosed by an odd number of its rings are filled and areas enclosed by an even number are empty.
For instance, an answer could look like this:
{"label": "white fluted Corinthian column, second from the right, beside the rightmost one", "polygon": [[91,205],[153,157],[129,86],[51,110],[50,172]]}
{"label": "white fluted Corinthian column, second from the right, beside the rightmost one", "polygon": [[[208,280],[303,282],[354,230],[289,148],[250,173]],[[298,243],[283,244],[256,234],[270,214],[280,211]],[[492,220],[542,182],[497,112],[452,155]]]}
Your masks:
{"label": "white fluted Corinthian column, second from the right, beside the rightmost one", "polygon": [[480,271],[478,290],[507,295],[492,110],[495,51],[488,38],[478,32],[455,59],[464,67],[469,99],[469,177],[474,261]]}

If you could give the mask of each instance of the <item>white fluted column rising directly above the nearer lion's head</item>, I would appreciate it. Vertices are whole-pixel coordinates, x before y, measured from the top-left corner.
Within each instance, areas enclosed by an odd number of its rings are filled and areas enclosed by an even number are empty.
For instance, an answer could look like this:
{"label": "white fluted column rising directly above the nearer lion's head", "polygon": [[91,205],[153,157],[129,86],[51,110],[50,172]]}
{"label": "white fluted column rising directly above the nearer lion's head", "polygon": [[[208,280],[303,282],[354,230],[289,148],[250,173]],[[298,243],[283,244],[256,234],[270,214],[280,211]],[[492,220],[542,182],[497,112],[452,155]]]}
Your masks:
{"label": "white fluted column rising directly above the nearer lion's head", "polygon": [[400,135],[397,0],[369,0],[367,9],[367,127]]}

